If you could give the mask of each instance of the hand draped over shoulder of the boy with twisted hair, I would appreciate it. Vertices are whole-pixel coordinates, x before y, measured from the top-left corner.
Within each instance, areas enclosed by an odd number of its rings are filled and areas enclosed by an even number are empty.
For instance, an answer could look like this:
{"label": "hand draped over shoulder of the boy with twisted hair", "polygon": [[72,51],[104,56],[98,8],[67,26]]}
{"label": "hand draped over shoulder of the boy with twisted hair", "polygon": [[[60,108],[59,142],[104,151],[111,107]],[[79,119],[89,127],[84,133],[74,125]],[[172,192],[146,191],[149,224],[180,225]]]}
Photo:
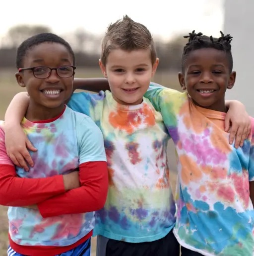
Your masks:
{"label": "hand draped over shoulder of the boy with twisted hair", "polygon": [[235,148],[239,145],[242,147],[251,132],[251,127],[251,119],[244,104],[232,100],[225,118],[225,131],[230,130],[229,143],[232,144],[235,139]]}

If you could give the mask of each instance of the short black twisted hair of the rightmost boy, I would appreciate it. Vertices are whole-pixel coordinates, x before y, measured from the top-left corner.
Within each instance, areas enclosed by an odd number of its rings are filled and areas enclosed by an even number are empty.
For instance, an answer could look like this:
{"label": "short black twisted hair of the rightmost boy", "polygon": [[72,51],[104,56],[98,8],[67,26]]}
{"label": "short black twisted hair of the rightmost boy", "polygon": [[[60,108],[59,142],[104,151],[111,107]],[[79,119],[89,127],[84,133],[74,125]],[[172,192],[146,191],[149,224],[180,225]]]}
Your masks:
{"label": "short black twisted hair of the rightmost boy", "polygon": [[201,32],[196,34],[195,30],[193,30],[189,35],[184,36],[184,38],[189,38],[189,41],[185,45],[182,55],[182,71],[184,72],[184,65],[191,51],[203,48],[213,48],[226,53],[229,70],[232,72],[233,58],[231,53],[231,41],[233,37],[230,34],[224,35],[221,31],[220,34],[221,36],[219,38],[214,38],[212,36],[205,36]]}

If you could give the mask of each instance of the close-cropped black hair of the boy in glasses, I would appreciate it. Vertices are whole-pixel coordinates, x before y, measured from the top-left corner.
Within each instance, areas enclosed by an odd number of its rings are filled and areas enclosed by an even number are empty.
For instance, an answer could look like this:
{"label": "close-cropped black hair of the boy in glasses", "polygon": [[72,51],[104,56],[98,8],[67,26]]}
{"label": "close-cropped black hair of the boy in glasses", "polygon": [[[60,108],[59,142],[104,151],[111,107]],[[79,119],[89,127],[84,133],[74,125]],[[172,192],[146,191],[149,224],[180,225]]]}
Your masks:
{"label": "close-cropped black hair of the boy in glasses", "polygon": [[34,35],[32,37],[27,38],[25,41],[23,41],[18,49],[17,49],[17,55],[16,55],[16,68],[23,68],[23,58],[25,57],[27,51],[31,49],[32,47],[39,45],[41,43],[45,42],[52,42],[52,43],[59,43],[66,47],[66,49],[70,52],[72,58],[73,58],[73,65],[75,65],[75,55],[71,48],[71,46],[60,36],[53,34],[53,33],[40,33],[37,35]]}

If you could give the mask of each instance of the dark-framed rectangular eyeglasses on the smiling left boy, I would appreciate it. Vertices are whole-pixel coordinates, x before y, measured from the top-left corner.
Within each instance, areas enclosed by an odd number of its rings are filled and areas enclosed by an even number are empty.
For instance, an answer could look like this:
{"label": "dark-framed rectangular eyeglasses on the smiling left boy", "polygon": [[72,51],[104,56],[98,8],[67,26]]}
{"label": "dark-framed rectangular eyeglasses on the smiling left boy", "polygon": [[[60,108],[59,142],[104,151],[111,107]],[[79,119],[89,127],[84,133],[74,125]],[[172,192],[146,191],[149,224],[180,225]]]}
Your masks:
{"label": "dark-framed rectangular eyeglasses on the smiling left boy", "polygon": [[33,68],[23,68],[18,69],[18,72],[22,72],[23,70],[31,70],[36,78],[48,78],[50,77],[52,70],[57,72],[57,75],[61,78],[70,78],[74,75],[76,67],[75,66],[61,66],[59,68],[51,69],[49,67],[39,66]]}

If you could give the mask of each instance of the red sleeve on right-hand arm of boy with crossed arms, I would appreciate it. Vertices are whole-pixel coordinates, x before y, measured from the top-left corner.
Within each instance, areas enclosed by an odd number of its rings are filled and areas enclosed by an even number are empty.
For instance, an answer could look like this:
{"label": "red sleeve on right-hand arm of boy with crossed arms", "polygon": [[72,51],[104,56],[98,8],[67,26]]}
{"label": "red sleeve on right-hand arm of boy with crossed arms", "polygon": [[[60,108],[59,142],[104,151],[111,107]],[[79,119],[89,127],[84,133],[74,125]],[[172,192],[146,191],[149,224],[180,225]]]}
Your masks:
{"label": "red sleeve on right-hand arm of boy with crossed arms", "polygon": [[92,212],[101,209],[108,192],[108,167],[106,162],[87,162],[79,166],[81,186],[38,204],[46,217],[63,214]]}

